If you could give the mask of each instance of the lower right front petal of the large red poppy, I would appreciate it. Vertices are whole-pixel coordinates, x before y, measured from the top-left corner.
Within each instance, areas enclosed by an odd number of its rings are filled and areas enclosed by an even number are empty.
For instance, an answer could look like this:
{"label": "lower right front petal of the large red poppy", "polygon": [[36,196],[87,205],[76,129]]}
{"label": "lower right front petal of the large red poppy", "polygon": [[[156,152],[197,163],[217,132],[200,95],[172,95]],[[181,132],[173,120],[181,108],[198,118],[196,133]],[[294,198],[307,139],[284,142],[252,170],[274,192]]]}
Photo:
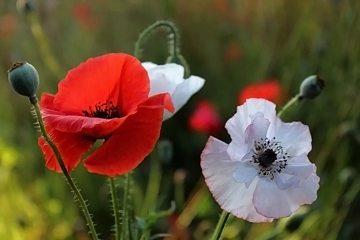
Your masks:
{"label": "lower right front petal of the large red poppy", "polygon": [[168,94],[152,96],[138,106],[113,135],[84,160],[89,172],[114,177],[134,169],[153,150],[160,135]]}

